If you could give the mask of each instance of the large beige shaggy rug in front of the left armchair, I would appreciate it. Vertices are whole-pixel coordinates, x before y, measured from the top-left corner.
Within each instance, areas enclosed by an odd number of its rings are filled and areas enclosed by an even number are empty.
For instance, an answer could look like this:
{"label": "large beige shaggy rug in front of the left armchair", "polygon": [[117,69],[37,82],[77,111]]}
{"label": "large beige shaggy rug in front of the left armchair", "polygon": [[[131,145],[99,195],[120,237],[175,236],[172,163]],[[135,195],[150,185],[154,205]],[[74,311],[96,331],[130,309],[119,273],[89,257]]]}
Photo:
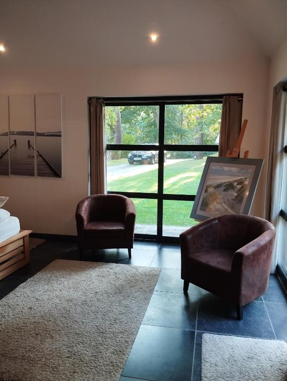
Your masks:
{"label": "large beige shaggy rug in front of the left armchair", "polygon": [[118,381],[159,273],[55,260],[0,301],[0,379]]}

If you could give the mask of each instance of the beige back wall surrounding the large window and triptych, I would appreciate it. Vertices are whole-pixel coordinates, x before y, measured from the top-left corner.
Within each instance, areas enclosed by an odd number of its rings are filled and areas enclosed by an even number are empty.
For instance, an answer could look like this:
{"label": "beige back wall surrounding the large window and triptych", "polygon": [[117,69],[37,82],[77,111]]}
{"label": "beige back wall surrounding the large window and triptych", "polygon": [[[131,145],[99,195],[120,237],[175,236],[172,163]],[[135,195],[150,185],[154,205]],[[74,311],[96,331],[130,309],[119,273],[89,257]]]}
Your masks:
{"label": "beige back wall surrounding the large window and triptych", "polygon": [[[2,70],[2,94],[63,94],[63,178],[0,177],[5,207],[21,227],[38,233],[75,234],[77,202],[88,194],[88,96],[192,95],[243,92],[248,126],[243,150],[265,156],[269,61],[197,62],[182,66]],[[262,216],[266,172],[252,214]]]}

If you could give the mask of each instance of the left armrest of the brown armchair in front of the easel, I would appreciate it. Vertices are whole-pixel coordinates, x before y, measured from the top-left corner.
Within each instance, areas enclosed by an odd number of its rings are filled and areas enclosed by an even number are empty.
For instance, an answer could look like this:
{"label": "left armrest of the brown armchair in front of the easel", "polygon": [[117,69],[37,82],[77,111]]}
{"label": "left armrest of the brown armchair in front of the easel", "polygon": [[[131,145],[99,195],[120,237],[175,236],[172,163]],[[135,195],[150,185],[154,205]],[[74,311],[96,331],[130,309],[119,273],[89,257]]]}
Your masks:
{"label": "left armrest of the brown armchair in front of the easel", "polygon": [[179,239],[182,254],[216,249],[218,246],[217,218],[210,218],[189,228],[181,233]]}

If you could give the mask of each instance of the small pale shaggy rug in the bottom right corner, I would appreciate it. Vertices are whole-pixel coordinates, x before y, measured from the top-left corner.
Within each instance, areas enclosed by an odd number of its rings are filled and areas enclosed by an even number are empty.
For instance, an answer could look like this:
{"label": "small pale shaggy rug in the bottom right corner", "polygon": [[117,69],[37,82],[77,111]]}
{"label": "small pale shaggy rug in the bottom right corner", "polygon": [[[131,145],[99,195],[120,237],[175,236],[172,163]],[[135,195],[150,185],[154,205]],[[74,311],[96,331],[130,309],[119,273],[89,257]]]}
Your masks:
{"label": "small pale shaggy rug in the bottom right corner", "polygon": [[202,381],[287,381],[287,344],[204,333]]}

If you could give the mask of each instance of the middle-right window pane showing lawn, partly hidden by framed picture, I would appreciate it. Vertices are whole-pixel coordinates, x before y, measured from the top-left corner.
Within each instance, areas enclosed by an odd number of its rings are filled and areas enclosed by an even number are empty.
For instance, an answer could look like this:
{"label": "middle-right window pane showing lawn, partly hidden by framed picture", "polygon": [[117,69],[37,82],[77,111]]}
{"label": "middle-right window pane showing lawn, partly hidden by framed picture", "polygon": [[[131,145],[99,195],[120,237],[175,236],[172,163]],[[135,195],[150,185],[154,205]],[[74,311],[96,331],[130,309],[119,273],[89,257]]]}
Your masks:
{"label": "middle-right window pane showing lawn, partly hidden by framed picture", "polygon": [[170,152],[164,163],[163,192],[195,195],[208,156],[218,152]]}

